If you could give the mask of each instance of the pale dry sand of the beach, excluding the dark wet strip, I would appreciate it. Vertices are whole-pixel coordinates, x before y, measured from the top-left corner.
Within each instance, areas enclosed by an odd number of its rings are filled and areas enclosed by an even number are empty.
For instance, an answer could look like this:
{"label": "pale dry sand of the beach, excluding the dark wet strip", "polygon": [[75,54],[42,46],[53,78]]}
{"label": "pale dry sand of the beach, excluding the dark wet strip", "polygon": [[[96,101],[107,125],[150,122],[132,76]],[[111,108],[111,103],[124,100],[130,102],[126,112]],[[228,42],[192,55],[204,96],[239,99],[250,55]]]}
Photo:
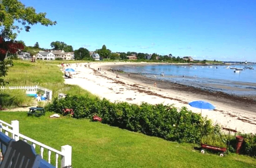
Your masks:
{"label": "pale dry sand of the beach, excluding the dark wet strip", "polygon": [[[71,64],[70,68],[76,70],[76,75],[72,79],[65,79],[66,84],[78,85],[101,98],[105,97],[111,102],[126,101],[128,103],[140,104],[147,102],[150,104],[173,104],[180,109],[185,106],[194,113],[201,113],[200,109],[190,107],[187,103],[194,100],[206,100],[212,103],[216,110],[202,110],[202,116],[208,117],[214,124],[220,124],[224,128],[234,129],[242,133],[256,133],[255,111],[246,108],[237,108],[226,103],[212,101],[207,97],[200,97],[197,94],[186,94],[168,89],[160,89],[152,85],[146,85],[133,80],[128,76],[119,76],[106,69],[110,69],[113,64],[132,63],[90,63],[90,68],[85,67],[87,63],[79,66]],[[138,63],[133,63],[138,64]],[[101,71],[98,71],[101,68]],[[203,99],[204,98],[204,99]]]}

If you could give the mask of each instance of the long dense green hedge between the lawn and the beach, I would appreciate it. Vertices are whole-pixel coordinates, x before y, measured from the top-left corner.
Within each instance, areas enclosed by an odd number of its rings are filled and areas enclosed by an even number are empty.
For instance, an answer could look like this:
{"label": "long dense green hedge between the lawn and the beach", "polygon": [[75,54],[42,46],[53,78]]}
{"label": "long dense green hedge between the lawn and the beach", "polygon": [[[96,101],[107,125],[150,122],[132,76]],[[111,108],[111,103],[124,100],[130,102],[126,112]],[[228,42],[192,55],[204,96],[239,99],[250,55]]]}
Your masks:
{"label": "long dense green hedge between the lawn and the beach", "polygon": [[[169,141],[200,143],[202,137],[209,137],[216,134],[216,132],[220,132],[218,125],[213,126],[211,120],[193,113],[185,107],[178,111],[173,106],[163,104],[142,103],[141,105],[135,105],[126,102],[111,103],[106,99],[101,100],[84,96],[66,96],[64,99],[54,99],[46,108],[48,111],[60,114],[63,114],[63,108],[73,109],[73,117],[77,119],[92,120],[94,115],[98,115],[102,118],[102,123]],[[256,135],[241,135],[245,137],[241,152],[256,156]],[[216,136],[219,136],[219,134],[216,134]],[[227,144],[228,136],[221,136],[224,143]],[[230,151],[234,152],[235,139],[234,136],[232,137]],[[212,139],[215,141],[218,137]],[[209,138],[206,140],[209,141]]]}

